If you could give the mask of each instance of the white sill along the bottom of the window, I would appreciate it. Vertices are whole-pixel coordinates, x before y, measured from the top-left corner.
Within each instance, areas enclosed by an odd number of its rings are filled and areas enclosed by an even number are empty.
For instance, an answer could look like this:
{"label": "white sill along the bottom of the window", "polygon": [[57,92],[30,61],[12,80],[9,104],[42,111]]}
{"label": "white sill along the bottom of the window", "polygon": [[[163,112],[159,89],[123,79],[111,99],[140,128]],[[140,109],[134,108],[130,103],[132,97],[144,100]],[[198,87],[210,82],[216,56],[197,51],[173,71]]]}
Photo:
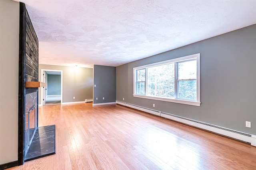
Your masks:
{"label": "white sill along the bottom of the window", "polygon": [[188,101],[188,100],[179,100],[179,99],[170,99],[170,98],[160,98],[160,97],[153,97],[153,96],[142,96],[133,94],[133,97],[136,98],[145,98],[145,99],[152,99],[152,100],[161,100],[165,102],[173,102],[173,103],[180,103],[180,104],[188,104],[193,106],[200,106],[201,102],[194,102],[194,101]]}

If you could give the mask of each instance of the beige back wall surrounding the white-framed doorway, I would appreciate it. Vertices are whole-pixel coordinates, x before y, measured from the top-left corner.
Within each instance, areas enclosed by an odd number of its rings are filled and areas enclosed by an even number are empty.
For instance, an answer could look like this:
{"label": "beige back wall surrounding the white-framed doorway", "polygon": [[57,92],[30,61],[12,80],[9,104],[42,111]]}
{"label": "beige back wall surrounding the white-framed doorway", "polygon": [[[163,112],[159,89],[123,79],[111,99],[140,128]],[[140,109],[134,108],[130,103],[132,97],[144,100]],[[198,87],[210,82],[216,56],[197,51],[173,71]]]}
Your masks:
{"label": "beige back wall surrounding the white-framed doorway", "polygon": [[[92,68],[39,64],[40,81],[42,81],[42,69],[63,71],[63,103],[92,99]],[[41,90],[42,88],[39,88],[39,104],[41,104]]]}

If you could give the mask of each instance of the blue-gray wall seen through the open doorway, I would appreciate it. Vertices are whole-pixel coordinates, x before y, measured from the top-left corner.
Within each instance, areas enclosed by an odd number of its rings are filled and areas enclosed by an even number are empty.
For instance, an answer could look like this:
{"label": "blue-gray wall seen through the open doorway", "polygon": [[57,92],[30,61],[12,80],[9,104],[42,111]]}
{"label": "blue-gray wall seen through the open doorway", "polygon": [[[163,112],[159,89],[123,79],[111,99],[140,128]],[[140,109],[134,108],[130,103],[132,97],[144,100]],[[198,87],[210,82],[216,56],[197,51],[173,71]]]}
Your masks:
{"label": "blue-gray wall seen through the open doorway", "polygon": [[48,74],[47,95],[60,95],[61,94],[61,76]]}

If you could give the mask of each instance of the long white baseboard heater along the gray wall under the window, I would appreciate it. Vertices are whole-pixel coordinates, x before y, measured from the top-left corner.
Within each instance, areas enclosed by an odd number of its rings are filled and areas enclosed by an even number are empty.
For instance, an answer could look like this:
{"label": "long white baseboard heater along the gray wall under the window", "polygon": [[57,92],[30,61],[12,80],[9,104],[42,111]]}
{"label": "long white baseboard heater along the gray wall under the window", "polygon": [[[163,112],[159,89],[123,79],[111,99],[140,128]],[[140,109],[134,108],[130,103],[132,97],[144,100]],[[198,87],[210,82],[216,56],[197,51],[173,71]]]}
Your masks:
{"label": "long white baseboard heater along the gray wall under the window", "polygon": [[233,129],[228,129],[228,128],[225,128],[225,127],[220,127],[220,126],[217,126],[217,125],[212,125],[212,124],[209,124],[209,123],[204,123],[204,122],[193,120],[193,119],[188,119],[186,117],[173,115],[171,113],[166,113],[166,112],[157,111],[157,110],[154,110],[154,109],[149,109],[149,108],[146,108],[146,107],[136,106],[134,104],[128,104],[128,103],[125,103],[125,102],[116,101],[116,104],[131,107],[131,108],[134,108],[134,109],[137,109],[137,110],[140,110],[140,111],[144,111],[144,112],[147,112],[147,113],[150,113],[150,114],[154,114],[154,115],[158,115],[160,117],[164,117],[166,119],[178,121],[178,122],[184,123],[186,125],[190,125],[190,126],[193,126],[193,127],[204,129],[206,131],[211,131],[211,132],[217,133],[219,135],[223,135],[223,136],[226,136],[226,137],[230,137],[230,138],[233,138],[233,139],[244,141],[244,142],[250,143],[252,146],[256,147],[256,135],[236,131],[236,130],[233,130]]}

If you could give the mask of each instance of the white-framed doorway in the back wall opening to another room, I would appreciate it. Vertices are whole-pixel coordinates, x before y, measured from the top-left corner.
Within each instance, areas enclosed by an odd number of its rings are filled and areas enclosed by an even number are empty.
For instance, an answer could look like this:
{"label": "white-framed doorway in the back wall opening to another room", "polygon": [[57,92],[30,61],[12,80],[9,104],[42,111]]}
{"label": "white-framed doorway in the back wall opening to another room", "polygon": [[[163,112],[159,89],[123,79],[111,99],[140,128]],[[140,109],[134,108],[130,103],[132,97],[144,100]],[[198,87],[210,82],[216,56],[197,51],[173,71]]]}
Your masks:
{"label": "white-framed doorway in the back wall opening to another room", "polygon": [[41,91],[41,104],[62,104],[62,70],[41,70],[42,82],[46,83]]}

